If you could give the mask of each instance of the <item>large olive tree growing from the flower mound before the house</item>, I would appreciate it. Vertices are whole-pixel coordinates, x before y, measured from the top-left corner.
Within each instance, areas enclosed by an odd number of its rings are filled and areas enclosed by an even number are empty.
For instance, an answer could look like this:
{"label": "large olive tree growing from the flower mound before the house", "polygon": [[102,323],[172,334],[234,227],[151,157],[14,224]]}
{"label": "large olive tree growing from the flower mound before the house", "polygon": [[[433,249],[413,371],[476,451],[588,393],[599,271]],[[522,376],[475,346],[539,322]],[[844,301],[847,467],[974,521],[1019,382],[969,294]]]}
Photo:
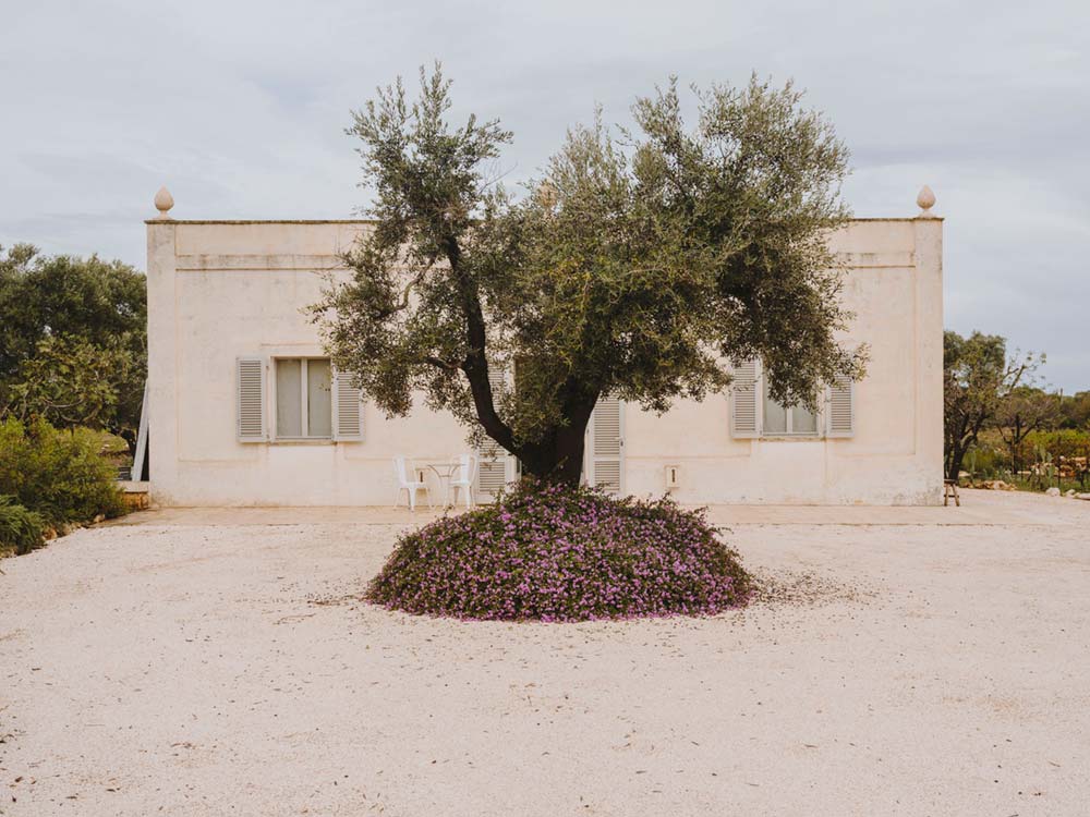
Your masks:
{"label": "large olive tree growing from the flower mound before the house", "polygon": [[375,224],[315,306],[335,365],[388,414],[422,392],[574,483],[603,394],[663,412],[760,357],[777,399],[813,405],[862,373],[825,241],[847,151],[790,85],[694,90],[689,124],[671,82],[631,131],[601,112],[571,129],[522,197],[496,179],[511,134],[448,122],[449,89],[436,65],[417,100],[399,80],[354,114]]}

